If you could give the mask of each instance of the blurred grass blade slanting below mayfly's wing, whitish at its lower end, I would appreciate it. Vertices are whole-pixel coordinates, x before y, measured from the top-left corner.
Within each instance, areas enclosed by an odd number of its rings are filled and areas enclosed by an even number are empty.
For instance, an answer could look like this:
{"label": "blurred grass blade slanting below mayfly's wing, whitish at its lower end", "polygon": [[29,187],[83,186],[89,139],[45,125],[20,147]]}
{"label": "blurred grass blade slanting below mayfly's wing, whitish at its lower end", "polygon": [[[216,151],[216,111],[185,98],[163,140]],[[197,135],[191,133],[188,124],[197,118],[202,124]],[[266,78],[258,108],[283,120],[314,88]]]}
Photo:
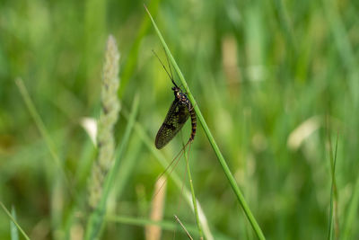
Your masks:
{"label": "blurred grass blade slanting below mayfly's wing, whitish at its lower end", "polygon": [[[122,109],[121,113],[126,119],[128,119],[128,113],[125,108]],[[136,131],[136,134],[144,142],[144,145],[151,151],[151,153],[156,158],[156,160],[160,164],[162,164],[163,168],[166,168],[169,164],[169,161],[167,161],[165,156],[163,156],[163,154],[160,151],[158,151],[157,148],[154,147],[153,140],[147,136],[146,131],[141,126],[141,124],[139,124],[138,122],[135,123],[135,131]],[[180,181],[180,177],[175,172],[171,173],[170,177],[171,177],[171,180],[175,183],[176,187],[178,189],[182,190],[183,184]],[[183,196],[185,197],[188,205],[190,207],[192,207],[191,194],[189,193],[188,189],[186,187],[184,187],[183,191],[181,191],[181,192],[182,192]],[[203,227],[203,233],[204,233],[206,239],[208,239],[208,240],[214,239],[214,237],[211,233],[211,229],[208,226],[206,214],[203,211],[203,209],[201,208],[201,205],[198,200],[197,200],[197,208],[198,208],[199,220],[201,221],[201,225]]]}

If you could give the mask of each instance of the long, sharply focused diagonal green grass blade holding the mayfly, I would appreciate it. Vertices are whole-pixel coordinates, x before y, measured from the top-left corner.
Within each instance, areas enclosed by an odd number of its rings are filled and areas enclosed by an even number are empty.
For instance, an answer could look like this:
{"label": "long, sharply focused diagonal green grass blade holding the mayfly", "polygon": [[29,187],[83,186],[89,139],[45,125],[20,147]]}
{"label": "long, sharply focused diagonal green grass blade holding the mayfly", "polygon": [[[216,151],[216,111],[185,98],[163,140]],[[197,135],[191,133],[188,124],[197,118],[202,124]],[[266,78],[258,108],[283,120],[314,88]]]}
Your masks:
{"label": "long, sharply focused diagonal green grass blade holding the mayfly", "polygon": [[226,163],[226,161],[224,160],[224,157],[219,149],[219,147],[217,146],[216,142],[215,142],[215,138],[213,137],[211,131],[208,129],[208,126],[206,124],[206,120],[204,119],[202,112],[199,110],[198,104],[195,100],[195,98],[193,97],[192,93],[190,93],[189,88],[188,88],[188,84],[184,78],[184,76],[182,75],[182,72],[180,71],[180,67],[178,67],[175,59],[172,57],[171,55],[171,51],[170,49],[167,47],[166,42],[163,40],[162,38],[162,34],[160,32],[160,30],[157,28],[156,23],[154,22],[151,13],[148,12],[148,9],[145,7],[145,10],[147,11],[151,22],[153,23],[153,27],[154,30],[156,31],[159,39],[162,42],[162,46],[165,49],[167,56],[170,58],[171,64],[173,65],[173,67],[175,68],[178,76],[180,77],[180,82],[182,83],[183,87],[185,88],[186,92],[188,93],[188,98],[189,100],[192,102],[192,105],[195,108],[196,114],[197,114],[197,118],[199,120],[199,122],[202,125],[202,128],[205,130],[206,136],[208,138],[208,141],[210,142],[212,148],[215,151],[215,155],[218,158],[219,163],[222,165],[223,168],[223,172],[225,174],[225,176],[227,177],[228,181],[230,182],[230,185],[232,186],[232,190],[234,191],[234,194],[237,197],[237,200],[240,202],[241,204],[241,208],[243,209],[244,213],[246,214],[247,218],[250,221],[250,225],[252,226],[253,230],[255,231],[256,235],[258,236],[259,239],[266,239],[265,236],[263,235],[262,230],[260,229],[256,218],[254,218],[253,214],[250,211],[250,207],[248,206],[246,200],[243,197],[243,194],[241,193],[240,188],[237,186],[237,182],[235,181],[230,168],[228,167],[228,164]]}

